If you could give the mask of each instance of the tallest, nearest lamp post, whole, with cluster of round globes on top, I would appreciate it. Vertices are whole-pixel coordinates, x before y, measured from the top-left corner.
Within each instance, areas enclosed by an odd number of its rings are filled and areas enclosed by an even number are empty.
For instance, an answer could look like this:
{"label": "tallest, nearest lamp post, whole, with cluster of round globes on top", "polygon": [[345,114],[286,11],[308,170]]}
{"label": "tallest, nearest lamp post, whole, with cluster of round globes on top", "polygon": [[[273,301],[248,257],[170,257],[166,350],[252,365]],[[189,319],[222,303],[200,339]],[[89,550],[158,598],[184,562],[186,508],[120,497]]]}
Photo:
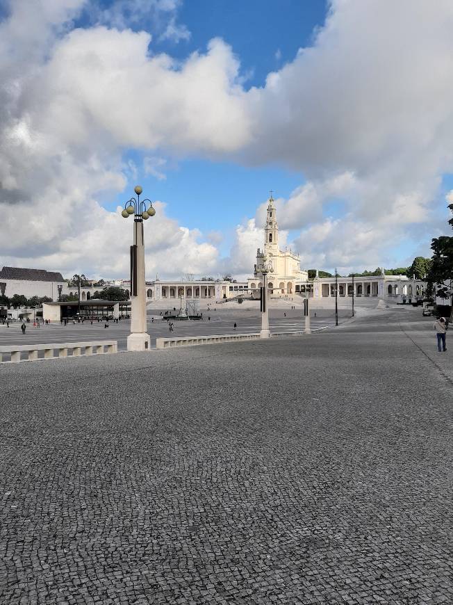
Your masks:
{"label": "tallest, nearest lamp post, whole, with cluster of round globes on top", "polygon": [[[147,334],[147,307],[145,292],[145,245],[143,243],[143,220],[156,214],[151,200],[140,200],[142,188],[134,188],[137,198],[124,204],[122,216],[133,214],[133,245],[131,245],[131,334],[127,337],[127,350],[151,348],[151,338]],[[149,208],[146,203],[149,202]]]}

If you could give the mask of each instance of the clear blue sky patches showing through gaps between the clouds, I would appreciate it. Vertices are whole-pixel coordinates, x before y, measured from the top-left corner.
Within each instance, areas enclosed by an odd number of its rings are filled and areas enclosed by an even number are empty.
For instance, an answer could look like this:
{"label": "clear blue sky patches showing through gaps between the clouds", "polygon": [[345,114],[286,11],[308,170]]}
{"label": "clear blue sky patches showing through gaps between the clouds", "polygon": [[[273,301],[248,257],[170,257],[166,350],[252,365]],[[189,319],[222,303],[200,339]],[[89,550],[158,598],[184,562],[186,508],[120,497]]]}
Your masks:
{"label": "clear blue sky patches showing through gaps between the clouds", "polygon": [[[104,6],[109,6],[105,2]],[[267,74],[293,61],[301,47],[311,44],[313,33],[324,23],[327,3],[323,0],[194,0],[178,11],[178,22],[190,32],[188,40],[160,40],[156,31],[150,50],[164,52],[183,61],[188,54],[206,51],[208,41],[220,37],[240,58],[245,88],[264,86]],[[86,25],[85,22],[81,24]],[[139,30],[142,24],[133,24]],[[148,24],[151,31],[153,24]],[[138,166],[143,156],[125,154]],[[167,213],[190,229],[222,231],[229,237],[219,243],[227,255],[233,229],[268,197],[288,197],[304,182],[302,171],[288,170],[269,163],[257,168],[231,161],[167,159],[162,168],[165,179],[140,175],[147,195],[167,204]],[[133,182],[129,184],[133,188]],[[126,195],[127,199],[127,195]],[[124,202],[121,193],[106,207]],[[335,202],[330,205],[336,216]]]}

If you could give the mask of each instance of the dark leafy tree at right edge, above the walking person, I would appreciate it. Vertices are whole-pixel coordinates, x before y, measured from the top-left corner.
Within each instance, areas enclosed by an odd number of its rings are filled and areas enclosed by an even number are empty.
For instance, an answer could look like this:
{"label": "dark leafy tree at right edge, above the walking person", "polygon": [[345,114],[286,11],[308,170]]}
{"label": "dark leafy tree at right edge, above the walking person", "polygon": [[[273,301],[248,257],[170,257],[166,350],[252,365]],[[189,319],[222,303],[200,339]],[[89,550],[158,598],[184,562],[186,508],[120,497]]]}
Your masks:
{"label": "dark leafy tree at right edge, above the walking person", "polygon": [[[448,207],[453,212],[453,204],[449,204]],[[448,223],[453,228],[453,218],[450,218]],[[428,294],[439,298],[453,298],[453,237],[441,235],[433,238],[431,250],[434,254],[427,273]]]}

